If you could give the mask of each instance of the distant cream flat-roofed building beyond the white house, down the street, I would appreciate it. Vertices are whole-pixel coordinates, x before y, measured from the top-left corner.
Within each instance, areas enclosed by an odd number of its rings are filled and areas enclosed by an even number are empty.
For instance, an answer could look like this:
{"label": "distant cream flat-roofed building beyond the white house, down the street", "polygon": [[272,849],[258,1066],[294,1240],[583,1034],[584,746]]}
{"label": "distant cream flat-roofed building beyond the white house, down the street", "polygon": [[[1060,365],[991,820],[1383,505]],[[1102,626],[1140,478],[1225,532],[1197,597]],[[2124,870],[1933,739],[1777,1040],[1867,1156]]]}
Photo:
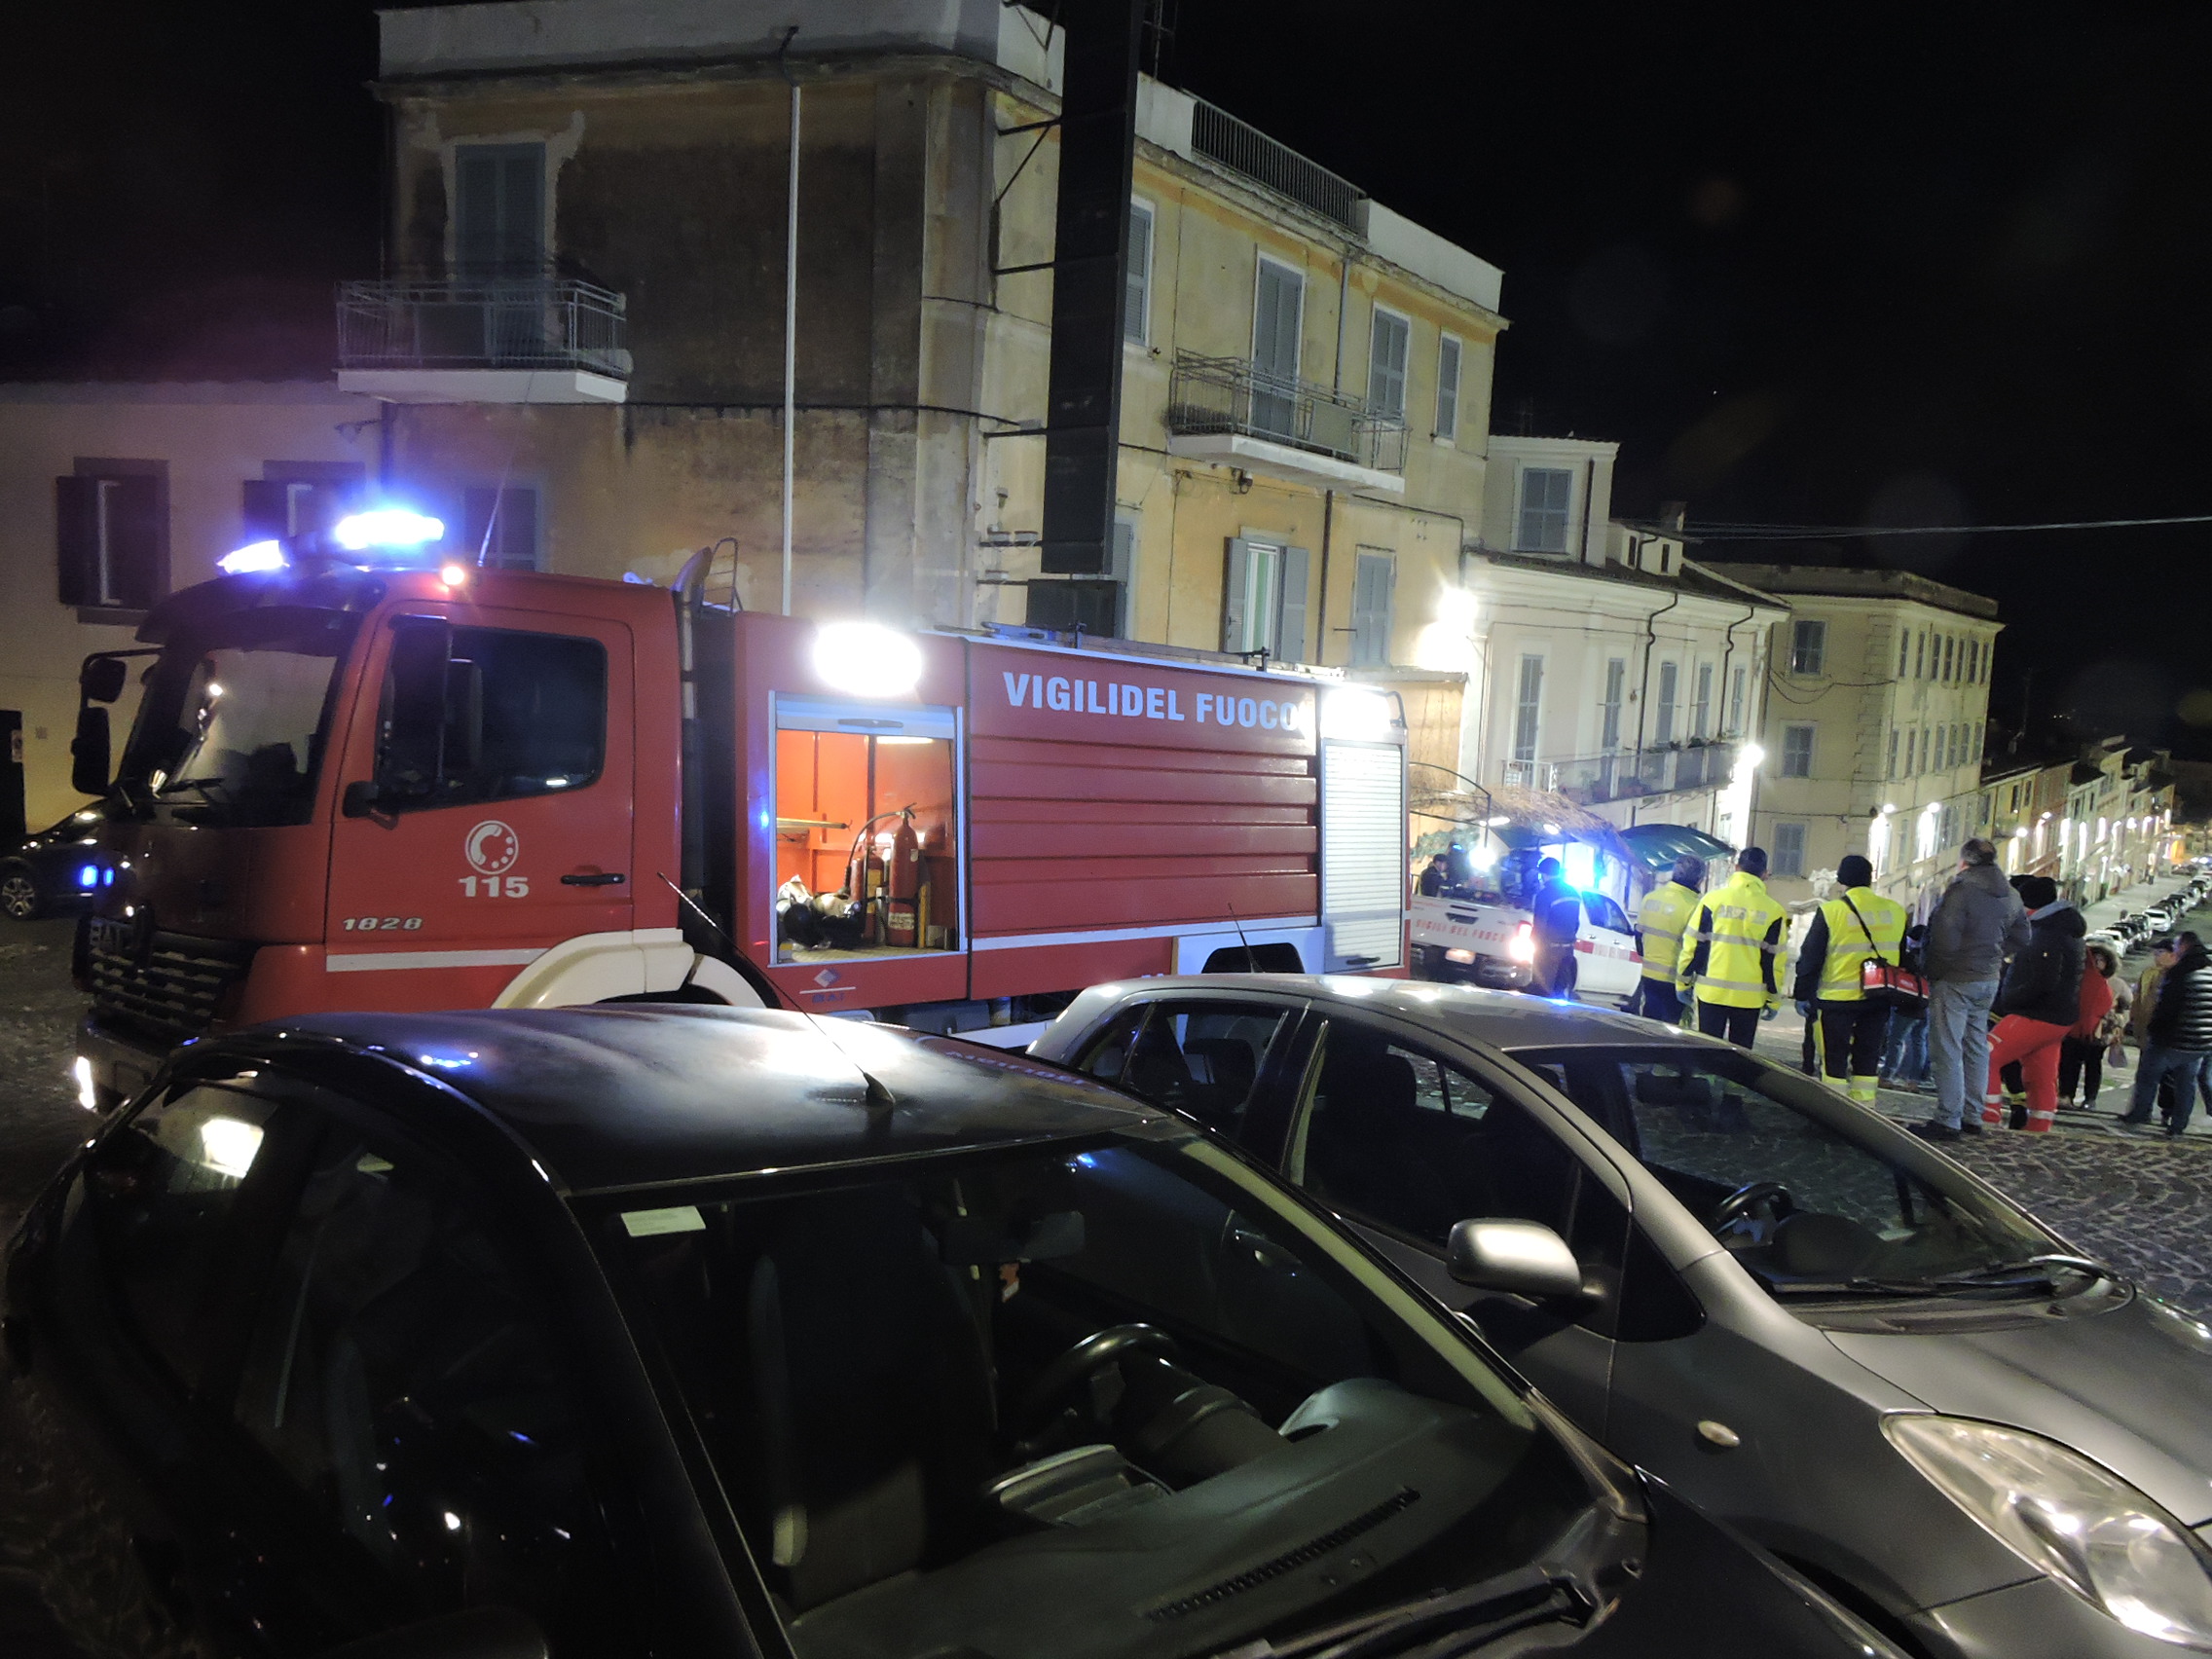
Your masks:
{"label": "distant cream flat-roofed building beyond the white house, down the street", "polygon": [[1790,606],[1752,803],[1767,885],[1803,902],[1858,852],[1924,916],[1980,832],[1995,599],[1909,571],[1723,568]]}

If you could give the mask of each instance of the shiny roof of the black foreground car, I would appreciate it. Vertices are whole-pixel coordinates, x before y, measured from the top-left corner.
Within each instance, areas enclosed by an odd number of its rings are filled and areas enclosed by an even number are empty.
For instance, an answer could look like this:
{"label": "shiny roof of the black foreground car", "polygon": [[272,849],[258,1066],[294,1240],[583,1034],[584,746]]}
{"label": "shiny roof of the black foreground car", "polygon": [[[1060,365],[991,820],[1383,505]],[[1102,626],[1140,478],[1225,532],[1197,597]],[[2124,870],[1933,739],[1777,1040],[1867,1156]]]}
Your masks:
{"label": "shiny roof of the black foreground car", "polygon": [[380,1055],[451,1086],[573,1194],[1166,1121],[1020,1053],[768,1009],[319,1013],[208,1051],[294,1046]]}

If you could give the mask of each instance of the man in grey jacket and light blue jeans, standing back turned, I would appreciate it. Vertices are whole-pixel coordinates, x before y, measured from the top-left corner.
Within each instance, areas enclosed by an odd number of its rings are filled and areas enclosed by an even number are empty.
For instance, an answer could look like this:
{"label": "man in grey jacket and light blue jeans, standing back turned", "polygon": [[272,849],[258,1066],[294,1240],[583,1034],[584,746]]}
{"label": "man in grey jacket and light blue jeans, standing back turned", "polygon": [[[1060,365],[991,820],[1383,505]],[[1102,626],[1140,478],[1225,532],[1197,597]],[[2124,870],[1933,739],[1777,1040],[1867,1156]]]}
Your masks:
{"label": "man in grey jacket and light blue jeans, standing back turned", "polygon": [[1958,876],[1929,916],[1920,951],[1929,975],[1936,1117],[1916,1124],[1916,1135],[1933,1141],[1955,1141],[1960,1133],[1980,1135],[1982,1119],[1966,1110],[1966,1093],[1980,1095],[1989,1071],[1989,1009],[1997,998],[2004,956],[2026,945],[2028,911],[1997,869],[1995,843],[1969,841],[1960,847]]}

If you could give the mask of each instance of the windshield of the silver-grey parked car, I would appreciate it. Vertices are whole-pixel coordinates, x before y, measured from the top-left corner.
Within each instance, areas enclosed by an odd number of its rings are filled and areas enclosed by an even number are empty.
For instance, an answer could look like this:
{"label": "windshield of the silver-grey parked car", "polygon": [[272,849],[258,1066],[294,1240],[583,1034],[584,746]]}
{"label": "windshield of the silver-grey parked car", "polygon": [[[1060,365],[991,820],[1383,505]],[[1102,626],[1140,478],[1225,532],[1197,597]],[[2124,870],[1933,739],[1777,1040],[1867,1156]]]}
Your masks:
{"label": "windshield of the silver-grey parked car", "polygon": [[2002,1283],[2004,1270],[2059,1250],[1933,1152],[1880,1144],[1863,1108],[1741,1048],[1522,1048],[1513,1060],[1613,1130],[1778,1296]]}

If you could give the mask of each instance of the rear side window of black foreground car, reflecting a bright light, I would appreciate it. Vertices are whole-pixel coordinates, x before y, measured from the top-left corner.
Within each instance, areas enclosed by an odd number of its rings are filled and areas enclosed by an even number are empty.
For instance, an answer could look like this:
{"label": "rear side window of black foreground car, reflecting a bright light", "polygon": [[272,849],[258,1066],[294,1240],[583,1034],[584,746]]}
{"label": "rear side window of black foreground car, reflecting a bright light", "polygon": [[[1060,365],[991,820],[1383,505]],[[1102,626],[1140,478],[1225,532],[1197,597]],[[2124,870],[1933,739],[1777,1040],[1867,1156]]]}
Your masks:
{"label": "rear side window of black foreground car, reflecting a bright light", "polygon": [[117,1307],[186,1387],[221,1329],[223,1252],[279,1110],[239,1088],[179,1086],[102,1137],[86,1168],[86,1214]]}

